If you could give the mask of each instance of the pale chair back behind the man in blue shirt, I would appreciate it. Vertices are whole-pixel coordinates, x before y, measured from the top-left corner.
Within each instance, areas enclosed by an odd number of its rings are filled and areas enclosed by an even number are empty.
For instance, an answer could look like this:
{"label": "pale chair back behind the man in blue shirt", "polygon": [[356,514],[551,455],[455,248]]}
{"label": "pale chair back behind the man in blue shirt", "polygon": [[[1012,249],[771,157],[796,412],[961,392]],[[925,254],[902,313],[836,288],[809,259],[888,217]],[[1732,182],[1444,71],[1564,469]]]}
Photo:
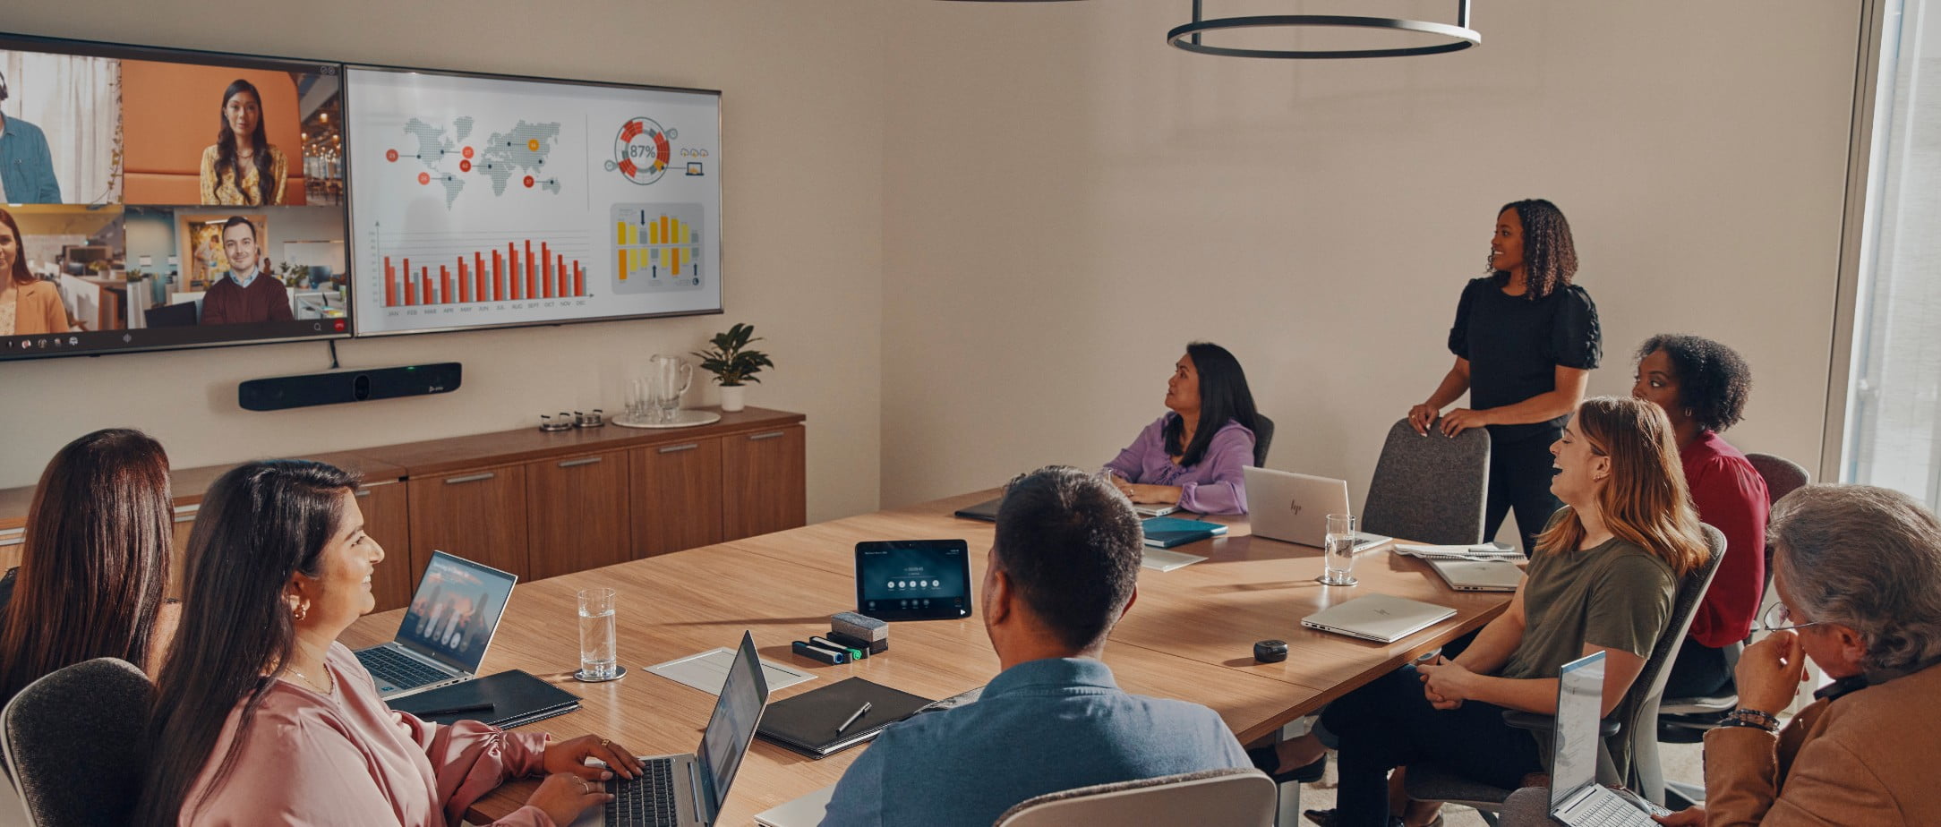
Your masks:
{"label": "pale chair back behind the man in blue shirt", "polygon": [[998,827],[1269,827],[1275,792],[1258,769],[1207,769],[1027,798],[1005,810]]}

